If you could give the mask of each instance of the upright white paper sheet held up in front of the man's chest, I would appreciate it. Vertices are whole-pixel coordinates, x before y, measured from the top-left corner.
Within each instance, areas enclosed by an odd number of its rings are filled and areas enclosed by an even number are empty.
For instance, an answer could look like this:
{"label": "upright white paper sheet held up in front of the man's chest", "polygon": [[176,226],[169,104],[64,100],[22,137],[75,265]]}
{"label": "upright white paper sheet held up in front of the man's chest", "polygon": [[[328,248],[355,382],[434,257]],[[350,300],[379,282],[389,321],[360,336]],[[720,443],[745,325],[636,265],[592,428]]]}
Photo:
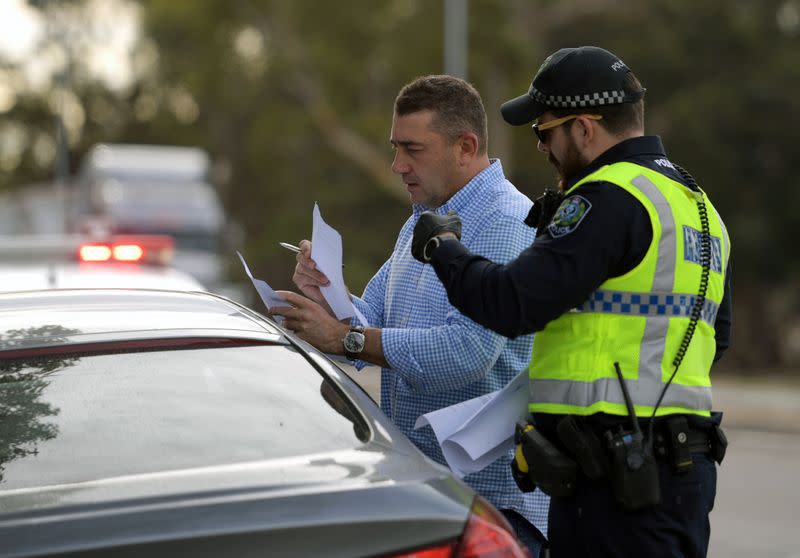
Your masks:
{"label": "upright white paper sheet held up in front of the man's chest", "polygon": [[333,310],[336,319],[343,320],[355,316],[361,325],[366,326],[367,320],[358,311],[347,293],[342,275],[342,235],[336,229],[322,220],[319,205],[314,204],[313,228],[311,231],[311,259],[317,264],[317,269],[324,273],[330,284],[320,287],[322,296]]}

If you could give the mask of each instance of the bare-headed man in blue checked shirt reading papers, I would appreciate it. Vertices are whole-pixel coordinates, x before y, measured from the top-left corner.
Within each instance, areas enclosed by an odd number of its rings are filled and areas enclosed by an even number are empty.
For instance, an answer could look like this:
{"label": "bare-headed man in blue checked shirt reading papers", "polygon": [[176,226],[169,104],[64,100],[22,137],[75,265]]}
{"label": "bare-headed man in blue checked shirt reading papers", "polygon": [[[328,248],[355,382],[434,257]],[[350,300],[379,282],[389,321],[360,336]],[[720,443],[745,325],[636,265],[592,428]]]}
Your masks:
{"label": "bare-headed man in blue checked shirt reading papers", "polygon": [[[328,284],[300,242],[293,280],[306,295],[281,291],[294,306],[281,308],[285,325],[317,348],[345,354],[358,368],[382,367],[381,408],[428,457],[445,465],[429,427],[417,417],[505,386],[530,360],[532,336],[508,339],[453,308],[431,266],[411,256],[411,237],[425,210],[458,213],[462,242],[473,252],[508,262],[531,245],[523,221],[531,201],[505,178],[487,153],[486,112],[467,82],[426,76],[407,84],[394,105],[392,171],[411,198],[391,257],[353,302],[366,329],[336,320],[319,287]],[[347,340],[345,340],[347,338]],[[549,499],[524,494],[511,476],[511,453],[464,481],[501,510],[534,557],[547,534]],[[535,527],[534,527],[535,526]]]}

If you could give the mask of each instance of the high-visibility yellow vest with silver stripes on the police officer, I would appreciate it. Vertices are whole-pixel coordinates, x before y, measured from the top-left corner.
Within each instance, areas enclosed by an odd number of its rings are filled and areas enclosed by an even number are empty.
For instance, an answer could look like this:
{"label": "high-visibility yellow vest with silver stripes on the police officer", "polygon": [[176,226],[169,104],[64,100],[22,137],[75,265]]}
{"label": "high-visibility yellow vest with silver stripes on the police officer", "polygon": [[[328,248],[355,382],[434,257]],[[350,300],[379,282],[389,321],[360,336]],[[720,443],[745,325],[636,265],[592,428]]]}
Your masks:
{"label": "high-visibility yellow vest with silver stripes on the police officer", "polygon": [[714,321],[725,288],[730,240],[702,192],[633,163],[607,165],[573,186],[605,181],[630,192],[645,207],[653,240],[642,261],[606,280],[589,299],[534,337],[529,411],[627,415],[614,363],[618,362],[637,416],[652,415],[674,371],[700,287],[702,231],[698,197],[705,200],[711,266],[702,315],[658,415],[709,416],[709,372],[716,351]]}

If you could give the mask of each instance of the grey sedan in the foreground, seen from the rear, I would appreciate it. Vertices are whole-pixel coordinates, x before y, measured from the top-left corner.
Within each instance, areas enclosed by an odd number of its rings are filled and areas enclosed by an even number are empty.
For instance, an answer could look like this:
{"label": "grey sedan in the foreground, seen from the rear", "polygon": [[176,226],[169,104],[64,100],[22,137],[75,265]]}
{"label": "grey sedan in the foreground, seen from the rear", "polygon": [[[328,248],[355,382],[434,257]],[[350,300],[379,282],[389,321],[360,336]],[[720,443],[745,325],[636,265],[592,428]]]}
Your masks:
{"label": "grey sedan in the foreground, seen from the rear", "polygon": [[209,293],[0,294],[0,417],[0,556],[526,556],[323,354]]}

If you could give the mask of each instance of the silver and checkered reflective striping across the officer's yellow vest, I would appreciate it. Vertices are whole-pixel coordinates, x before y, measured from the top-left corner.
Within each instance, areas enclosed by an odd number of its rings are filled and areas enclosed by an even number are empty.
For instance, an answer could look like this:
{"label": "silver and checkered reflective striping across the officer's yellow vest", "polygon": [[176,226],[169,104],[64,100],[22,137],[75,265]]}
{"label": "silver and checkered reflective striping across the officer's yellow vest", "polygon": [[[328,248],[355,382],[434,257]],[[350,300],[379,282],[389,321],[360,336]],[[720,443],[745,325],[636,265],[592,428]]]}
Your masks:
{"label": "silver and checkered reflective striping across the officer's yellow vest", "polygon": [[[675,219],[672,208],[658,187],[646,176],[631,180],[655,207],[661,221],[661,238],[658,242],[655,277],[652,293],[626,293],[618,291],[596,291],[590,299],[575,308],[575,312],[607,312],[614,314],[645,316],[645,330],[639,346],[639,378],[625,380],[634,405],[653,407],[661,395],[664,382],[661,380],[661,363],[667,341],[669,318],[691,314],[695,300],[693,295],[672,292],[675,286],[675,261],[678,250]],[[655,298],[650,298],[650,297]],[[671,297],[671,298],[670,298]],[[713,325],[718,305],[706,301],[702,319]],[[609,362],[611,377],[594,382],[575,380],[531,379],[529,401],[533,403],[565,404],[588,407],[600,401],[625,404],[619,380],[614,374],[614,363]],[[593,371],[594,372],[594,371]],[[622,370],[630,375],[633,370]],[[662,407],[681,407],[697,411],[711,410],[711,389],[700,386],[685,386],[672,383],[667,389]]]}

